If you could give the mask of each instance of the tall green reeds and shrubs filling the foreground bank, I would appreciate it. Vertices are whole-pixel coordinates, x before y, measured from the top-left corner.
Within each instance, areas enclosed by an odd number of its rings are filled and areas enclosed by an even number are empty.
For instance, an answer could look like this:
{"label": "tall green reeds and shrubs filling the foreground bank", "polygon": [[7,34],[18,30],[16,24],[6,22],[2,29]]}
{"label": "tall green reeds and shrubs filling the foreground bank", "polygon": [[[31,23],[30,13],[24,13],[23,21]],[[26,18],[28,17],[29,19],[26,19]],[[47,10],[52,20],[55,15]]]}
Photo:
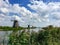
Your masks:
{"label": "tall green reeds and shrubs filling the foreground bank", "polygon": [[9,36],[8,45],[60,45],[60,28],[59,27],[43,27],[43,30],[13,31]]}

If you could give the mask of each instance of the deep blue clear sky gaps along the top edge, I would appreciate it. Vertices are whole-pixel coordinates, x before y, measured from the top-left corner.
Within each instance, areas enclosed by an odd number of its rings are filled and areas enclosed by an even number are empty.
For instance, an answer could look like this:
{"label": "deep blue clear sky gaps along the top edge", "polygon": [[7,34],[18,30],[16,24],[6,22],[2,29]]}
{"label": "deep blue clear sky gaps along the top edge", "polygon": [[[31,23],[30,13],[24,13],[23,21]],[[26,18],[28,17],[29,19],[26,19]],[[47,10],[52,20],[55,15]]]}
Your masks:
{"label": "deep blue clear sky gaps along the top edge", "polygon": [[[37,0],[40,1],[40,0]],[[44,3],[49,3],[49,2],[60,2],[60,0],[42,0]],[[26,7],[28,10],[31,10],[27,4],[31,4],[30,0],[9,0],[9,3],[13,4],[20,4],[20,6]]]}

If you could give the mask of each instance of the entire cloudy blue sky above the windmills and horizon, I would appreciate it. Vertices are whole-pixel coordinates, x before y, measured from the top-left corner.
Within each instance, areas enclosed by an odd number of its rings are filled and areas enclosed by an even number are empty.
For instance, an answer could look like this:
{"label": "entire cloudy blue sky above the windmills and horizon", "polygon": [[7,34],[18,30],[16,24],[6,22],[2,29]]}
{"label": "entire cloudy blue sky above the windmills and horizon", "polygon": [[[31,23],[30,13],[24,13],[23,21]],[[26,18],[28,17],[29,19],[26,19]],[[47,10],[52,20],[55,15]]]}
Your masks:
{"label": "entire cloudy blue sky above the windmills and horizon", "polygon": [[60,26],[60,0],[0,0],[0,26]]}

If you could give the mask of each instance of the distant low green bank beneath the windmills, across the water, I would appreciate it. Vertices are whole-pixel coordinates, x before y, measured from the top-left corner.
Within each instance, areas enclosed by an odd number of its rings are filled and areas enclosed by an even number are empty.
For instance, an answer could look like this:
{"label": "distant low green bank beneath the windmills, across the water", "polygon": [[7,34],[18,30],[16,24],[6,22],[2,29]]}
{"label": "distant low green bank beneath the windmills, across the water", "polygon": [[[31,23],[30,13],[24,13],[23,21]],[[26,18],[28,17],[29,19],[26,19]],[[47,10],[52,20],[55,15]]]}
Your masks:
{"label": "distant low green bank beneath the windmills, across the water", "polygon": [[[30,29],[34,29],[36,27],[30,27]],[[24,29],[29,29],[28,27],[9,27],[9,26],[0,26],[0,31],[15,31],[15,30],[24,30]]]}

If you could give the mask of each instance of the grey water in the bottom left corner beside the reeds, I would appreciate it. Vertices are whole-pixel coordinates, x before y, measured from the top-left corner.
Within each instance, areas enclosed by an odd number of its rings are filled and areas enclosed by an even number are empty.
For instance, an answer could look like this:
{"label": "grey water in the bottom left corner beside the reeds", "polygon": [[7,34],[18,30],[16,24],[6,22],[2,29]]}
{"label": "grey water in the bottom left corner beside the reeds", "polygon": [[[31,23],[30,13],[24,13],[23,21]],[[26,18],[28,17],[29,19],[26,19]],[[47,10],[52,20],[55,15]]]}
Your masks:
{"label": "grey water in the bottom left corner beside the reeds", "polygon": [[0,45],[7,45],[8,39],[9,39],[9,34],[12,31],[0,31]]}

